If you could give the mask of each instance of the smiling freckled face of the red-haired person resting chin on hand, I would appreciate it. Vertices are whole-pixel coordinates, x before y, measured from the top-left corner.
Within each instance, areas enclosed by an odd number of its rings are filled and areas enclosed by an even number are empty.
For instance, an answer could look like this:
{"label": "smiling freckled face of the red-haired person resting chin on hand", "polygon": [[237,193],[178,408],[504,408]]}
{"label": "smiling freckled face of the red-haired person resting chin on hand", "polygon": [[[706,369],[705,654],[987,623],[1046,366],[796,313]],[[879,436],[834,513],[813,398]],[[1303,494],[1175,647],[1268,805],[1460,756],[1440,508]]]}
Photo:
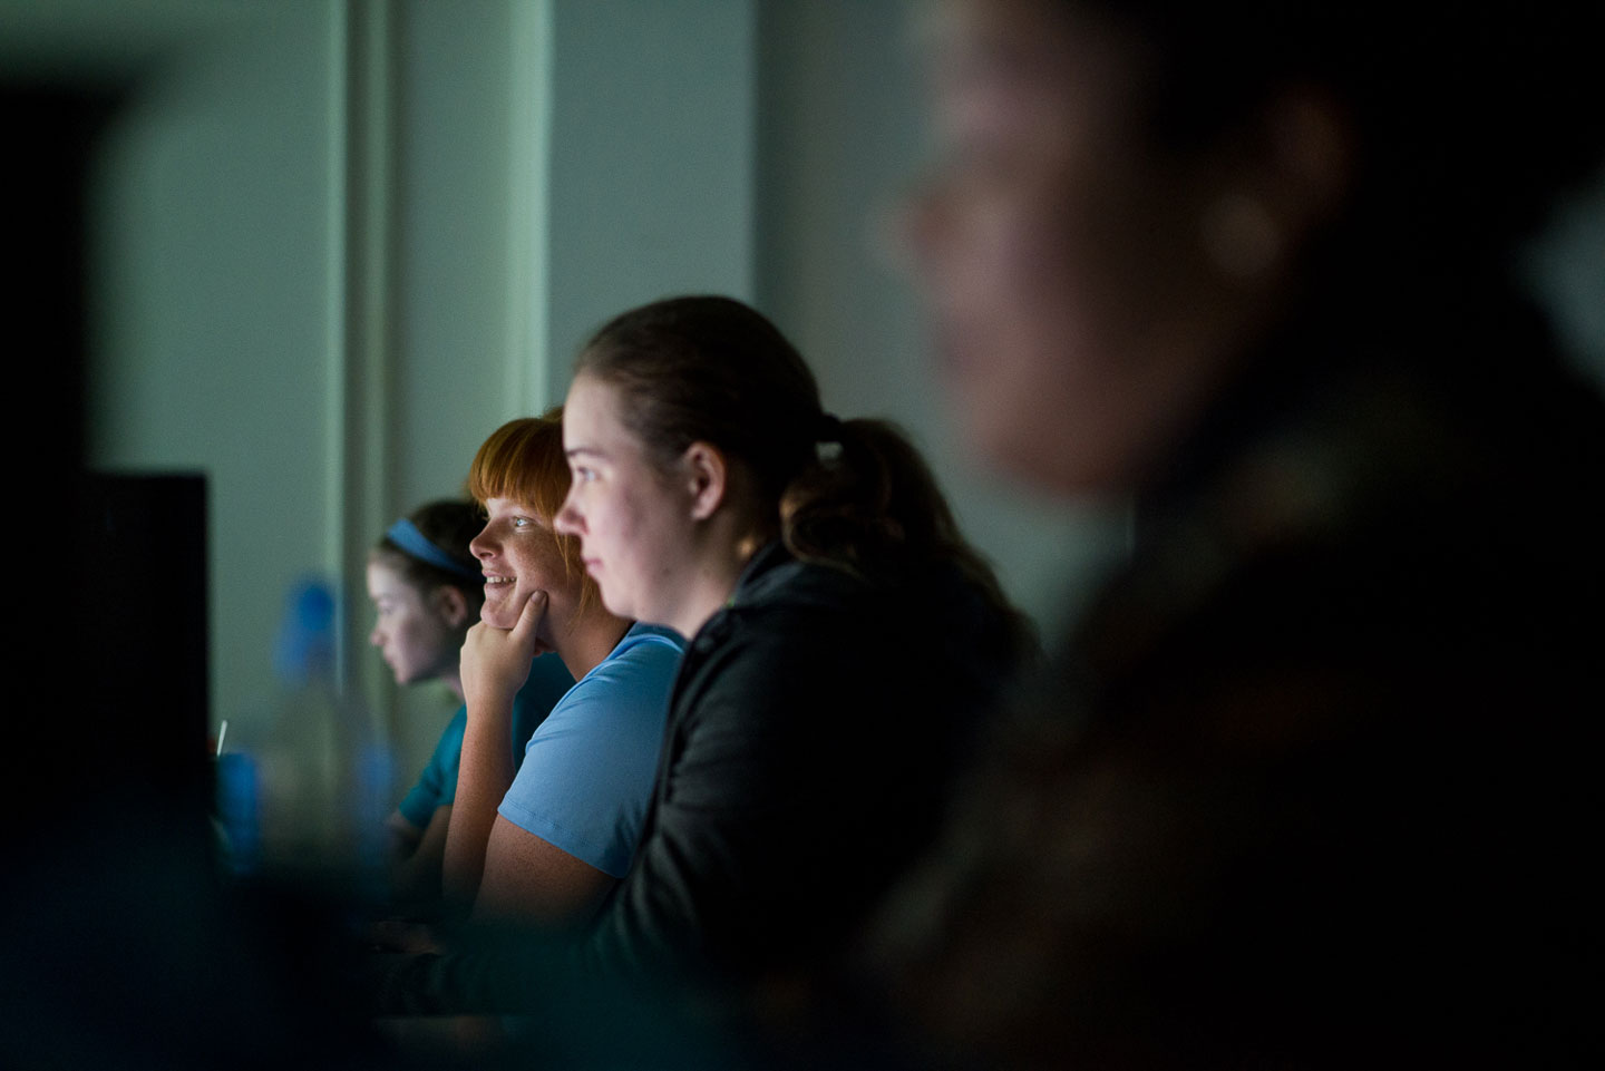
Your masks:
{"label": "smiling freckled face of the red-haired person resting chin on hand", "polygon": [[579,607],[581,576],[568,575],[551,523],[534,509],[510,498],[490,498],[485,512],[485,528],[469,543],[485,573],[480,620],[512,628],[530,596],[544,591],[547,607],[536,639],[542,649],[555,650],[552,637]]}

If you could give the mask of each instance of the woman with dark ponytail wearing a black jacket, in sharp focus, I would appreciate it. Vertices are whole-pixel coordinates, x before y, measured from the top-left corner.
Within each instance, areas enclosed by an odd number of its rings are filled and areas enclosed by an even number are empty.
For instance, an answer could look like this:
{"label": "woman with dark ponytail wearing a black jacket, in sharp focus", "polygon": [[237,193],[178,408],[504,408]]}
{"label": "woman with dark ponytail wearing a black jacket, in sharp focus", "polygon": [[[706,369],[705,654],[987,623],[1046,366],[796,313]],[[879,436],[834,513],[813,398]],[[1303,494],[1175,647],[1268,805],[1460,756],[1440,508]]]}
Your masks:
{"label": "woman with dark ponytail wearing a black jacket, in sharp focus", "polygon": [[692,637],[637,864],[594,949],[814,975],[931,833],[1019,618],[913,446],[827,414],[740,302],[603,326],[563,445],[557,527],[602,601]]}

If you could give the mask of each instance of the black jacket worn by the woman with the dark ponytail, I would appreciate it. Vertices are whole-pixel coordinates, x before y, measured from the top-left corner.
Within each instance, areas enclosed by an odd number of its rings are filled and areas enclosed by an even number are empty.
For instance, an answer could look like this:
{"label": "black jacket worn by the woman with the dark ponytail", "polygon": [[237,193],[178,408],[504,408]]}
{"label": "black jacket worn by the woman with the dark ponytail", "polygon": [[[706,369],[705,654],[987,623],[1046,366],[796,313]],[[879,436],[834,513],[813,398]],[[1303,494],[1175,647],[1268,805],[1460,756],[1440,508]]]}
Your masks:
{"label": "black jacket worn by the woman with the dark ponytail", "polygon": [[392,963],[380,1008],[809,984],[928,846],[1011,636],[950,564],[870,583],[766,546],[687,647],[642,840],[592,925]]}

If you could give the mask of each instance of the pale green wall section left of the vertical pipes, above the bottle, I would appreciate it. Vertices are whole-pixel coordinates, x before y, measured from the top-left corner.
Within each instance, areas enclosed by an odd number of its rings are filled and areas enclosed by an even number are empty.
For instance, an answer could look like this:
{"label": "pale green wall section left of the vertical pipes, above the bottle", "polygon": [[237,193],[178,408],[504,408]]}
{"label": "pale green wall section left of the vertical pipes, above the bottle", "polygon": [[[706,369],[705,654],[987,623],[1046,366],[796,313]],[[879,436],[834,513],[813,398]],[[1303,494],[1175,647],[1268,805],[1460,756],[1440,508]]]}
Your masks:
{"label": "pale green wall section left of the vertical pipes, above the bottle", "polygon": [[335,3],[241,8],[152,64],[91,206],[88,459],[207,475],[212,697],[270,689],[276,618],[337,567]]}

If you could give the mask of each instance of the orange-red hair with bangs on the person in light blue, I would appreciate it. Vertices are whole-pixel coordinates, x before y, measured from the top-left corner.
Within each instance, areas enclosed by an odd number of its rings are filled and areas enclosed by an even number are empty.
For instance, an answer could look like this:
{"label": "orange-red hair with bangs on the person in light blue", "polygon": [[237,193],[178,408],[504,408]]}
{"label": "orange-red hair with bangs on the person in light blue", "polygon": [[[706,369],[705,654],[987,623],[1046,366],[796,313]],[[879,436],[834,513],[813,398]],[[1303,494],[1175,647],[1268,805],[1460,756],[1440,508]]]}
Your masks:
{"label": "orange-red hair with bangs on the person in light blue", "polygon": [[[509,498],[539,515],[563,559],[567,576],[579,575],[579,609],[600,597],[595,581],[586,573],[579,556],[579,540],[557,531],[552,522],[568,496],[568,459],[563,456],[563,408],[554,406],[541,416],[507,421],[480,445],[469,466],[469,495],[480,506],[491,498]],[[483,515],[480,517],[483,527]]]}

